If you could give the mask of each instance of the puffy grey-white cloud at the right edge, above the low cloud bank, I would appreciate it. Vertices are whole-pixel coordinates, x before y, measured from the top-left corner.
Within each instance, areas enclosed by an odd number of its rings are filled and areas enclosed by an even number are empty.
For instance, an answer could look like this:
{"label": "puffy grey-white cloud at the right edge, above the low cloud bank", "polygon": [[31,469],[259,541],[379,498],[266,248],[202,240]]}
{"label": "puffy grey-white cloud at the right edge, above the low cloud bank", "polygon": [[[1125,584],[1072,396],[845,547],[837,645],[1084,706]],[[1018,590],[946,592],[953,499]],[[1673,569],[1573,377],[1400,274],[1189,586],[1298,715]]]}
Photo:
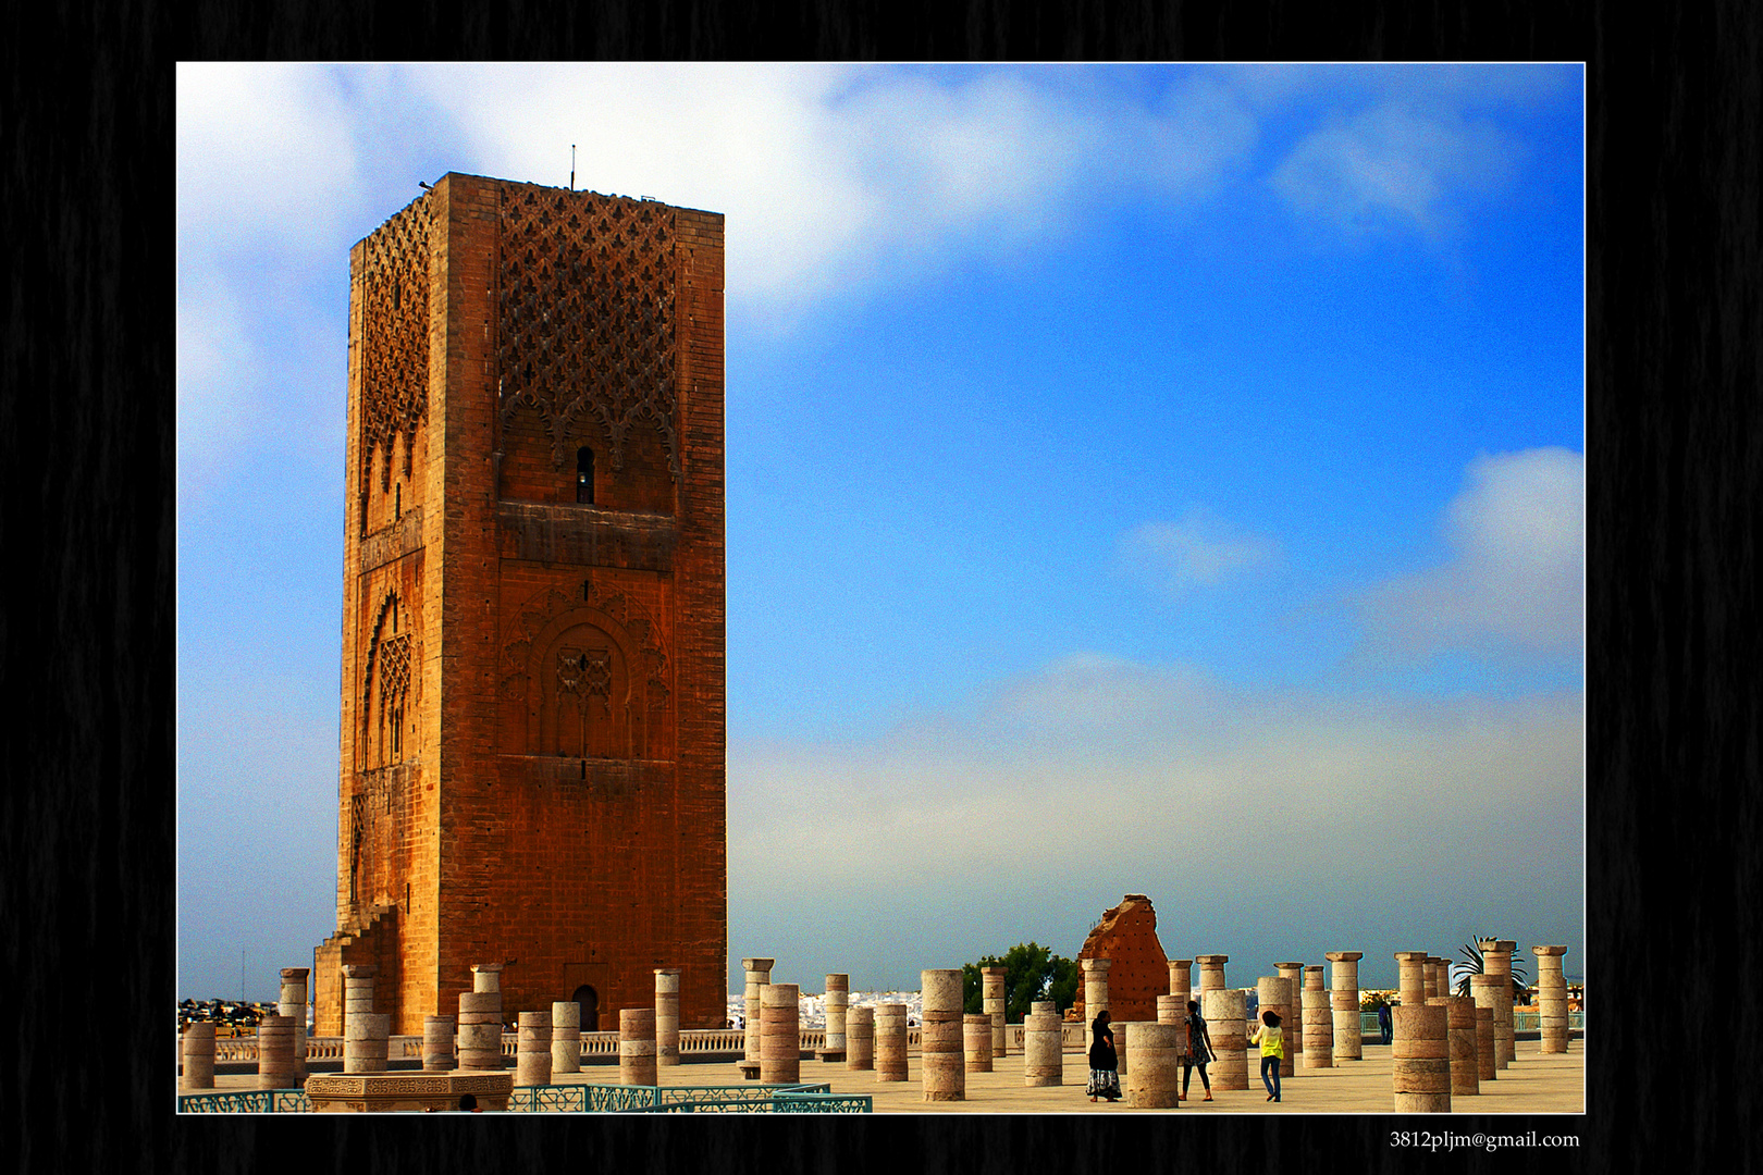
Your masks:
{"label": "puffy grey-white cloud at the right edge, above the low cloud bank", "polygon": [[1446,511],[1451,560],[1361,599],[1372,647],[1573,654],[1585,636],[1585,458],[1567,449],[1479,456]]}

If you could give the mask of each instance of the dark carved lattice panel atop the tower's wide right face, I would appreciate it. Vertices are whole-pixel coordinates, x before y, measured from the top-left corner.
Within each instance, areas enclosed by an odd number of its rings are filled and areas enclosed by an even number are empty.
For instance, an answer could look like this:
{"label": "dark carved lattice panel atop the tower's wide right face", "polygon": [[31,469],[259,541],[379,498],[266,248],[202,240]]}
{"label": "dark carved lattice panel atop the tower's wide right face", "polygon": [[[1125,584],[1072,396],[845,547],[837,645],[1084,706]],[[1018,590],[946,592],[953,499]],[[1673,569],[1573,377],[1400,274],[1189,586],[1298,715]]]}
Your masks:
{"label": "dark carved lattice panel atop the tower's wide right face", "polygon": [[501,423],[536,410],[559,470],[589,433],[622,469],[624,440],[645,423],[661,433],[679,479],[673,220],[665,204],[621,196],[502,188]]}

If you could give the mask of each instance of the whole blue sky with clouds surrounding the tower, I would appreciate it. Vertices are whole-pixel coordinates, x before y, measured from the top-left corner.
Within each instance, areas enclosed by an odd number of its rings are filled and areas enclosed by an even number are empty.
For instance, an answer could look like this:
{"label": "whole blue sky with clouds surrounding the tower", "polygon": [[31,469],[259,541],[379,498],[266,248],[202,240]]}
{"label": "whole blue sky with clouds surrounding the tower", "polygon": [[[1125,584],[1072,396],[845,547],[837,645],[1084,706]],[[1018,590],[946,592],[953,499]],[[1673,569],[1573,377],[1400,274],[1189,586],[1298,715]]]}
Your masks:
{"label": "whole blue sky with clouds surrounding the tower", "polygon": [[1583,974],[1578,65],[183,65],[180,997],[335,928],[347,250],[571,143],[726,215],[732,988]]}

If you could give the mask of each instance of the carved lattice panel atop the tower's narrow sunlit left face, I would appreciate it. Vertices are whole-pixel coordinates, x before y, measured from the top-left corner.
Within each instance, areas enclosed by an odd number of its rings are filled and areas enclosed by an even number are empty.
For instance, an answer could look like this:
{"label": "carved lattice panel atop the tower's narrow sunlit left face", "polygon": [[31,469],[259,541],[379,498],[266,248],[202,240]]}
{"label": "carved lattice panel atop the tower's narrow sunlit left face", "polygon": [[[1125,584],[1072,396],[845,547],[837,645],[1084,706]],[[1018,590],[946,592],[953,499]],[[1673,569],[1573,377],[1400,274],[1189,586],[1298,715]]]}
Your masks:
{"label": "carved lattice panel atop the tower's narrow sunlit left face", "polygon": [[361,491],[374,454],[386,451],[381,490],[391,488],[391,442],[404,437],[411,474],[416,430],[428,418],[428,196],[367,238],[361,273]]}

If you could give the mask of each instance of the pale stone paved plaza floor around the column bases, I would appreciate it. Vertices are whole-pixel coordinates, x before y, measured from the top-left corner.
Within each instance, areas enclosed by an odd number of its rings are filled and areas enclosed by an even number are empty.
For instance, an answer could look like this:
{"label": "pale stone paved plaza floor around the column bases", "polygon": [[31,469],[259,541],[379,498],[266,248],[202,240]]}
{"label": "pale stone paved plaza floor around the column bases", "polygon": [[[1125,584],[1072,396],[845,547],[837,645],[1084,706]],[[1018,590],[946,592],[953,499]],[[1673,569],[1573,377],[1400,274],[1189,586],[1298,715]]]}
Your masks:
{"label": "pale stone paved plaza floor around the column bases", "polygon": [[[1215,1101],[1201,1101],[1199,1075],[1194,1075],[1188,1101],[1179,1110],[1134,1110],[1125,1101],[1091,1103],[1084,1096],[1088,1060],[1082,1052],[1065,1052],[1065,1085],[1028,1089],[1023,1085],[1023,1053],[1012,1052],[993,1060],[991,1073],[966,1075],[966,1101],[924,1101],[920,1060],[908,1059],[906,1082],[878,1082],[873,1071],[852,1071],[843,1062],[802,1060],[802,1082],[827,1082],[836,1094],[867,1094],[876,1113],[1395,1113],[1391,1092],[1391,1046],[1366,1045],[1365,1059],[1328,1069],[1305,1069],[1283,1080],[1282,1101],[1266,1101],[1259,1060],[1250,1059],[1252,1087],[1218,1090]],[[1128,1062],[1130,1064],[1130,1062]],[[661,1068],[661,1085],[735,1085],[739,1073],[732,1062],[714,1060]],[[619,1068],[584,1066],[582,1073],[554,1076],[564,1083],[615,1083]],[[1125,1083],[1125,1078],[1123,1078]],[[256,1089],[252,1073],[217,1075],[217,1090]],[[1566,1053],[1539,1053],[1537,1041],[1518,1041],[1518,1059],[1500,1069],[1493,1082],[1481,1082],[1476,1096],[1454,1097],[1453,1113],[1583,1113],[1585,1112],[1585,1041],[1569,1041]]]}

